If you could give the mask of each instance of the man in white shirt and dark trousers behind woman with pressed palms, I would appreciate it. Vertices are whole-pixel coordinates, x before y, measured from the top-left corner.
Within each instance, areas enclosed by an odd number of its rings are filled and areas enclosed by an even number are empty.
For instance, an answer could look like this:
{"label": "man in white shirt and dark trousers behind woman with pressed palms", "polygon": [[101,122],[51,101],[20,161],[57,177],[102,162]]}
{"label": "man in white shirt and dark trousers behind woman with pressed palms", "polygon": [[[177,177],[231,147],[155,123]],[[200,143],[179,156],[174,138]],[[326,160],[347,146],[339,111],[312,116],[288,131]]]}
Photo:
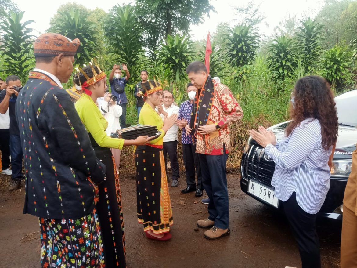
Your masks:
{"label": "man in white shirt and dark trousers behind woman with pressed palms", "polygon": [[[178,114],[178,106],[174,103],[174,95],[171,92],[164,92],[164,100],[162,105],[157,106],[158,113],[161,118],[164,119],[165,116],[171,116],[172,114]],[[165,158],[165,168],[167,174],[167,154],[169,154],[171,163],[171,173],[172,173],[172,184],[171,187],[178,186],[178,162],[177,162],[177,131],[178,126],[173,125],[169,130],[167,130],[164,136],[163,153]]]}

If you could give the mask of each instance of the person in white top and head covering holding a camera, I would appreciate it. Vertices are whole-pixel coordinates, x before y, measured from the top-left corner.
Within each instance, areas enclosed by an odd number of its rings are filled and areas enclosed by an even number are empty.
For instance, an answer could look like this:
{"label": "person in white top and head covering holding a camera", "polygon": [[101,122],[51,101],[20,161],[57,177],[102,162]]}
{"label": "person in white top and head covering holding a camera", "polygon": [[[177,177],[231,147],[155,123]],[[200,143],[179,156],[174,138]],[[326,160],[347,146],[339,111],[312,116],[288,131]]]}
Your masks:
{"label": "person in white top and head covering holding a camera", "polygon": [[[122,115],[122,108],[117,105],[117,97],[112,95],[109,91],[105,93],[104,97],[98,98],[98,108],[104,118],[108,121],[108,127],[105,133],[111,136],[112,133],[116,133],[117,129],[120,129],[119,117]],[[115,160],[116,170],[119,170],[120,166],[120,149],[110,148]]]}

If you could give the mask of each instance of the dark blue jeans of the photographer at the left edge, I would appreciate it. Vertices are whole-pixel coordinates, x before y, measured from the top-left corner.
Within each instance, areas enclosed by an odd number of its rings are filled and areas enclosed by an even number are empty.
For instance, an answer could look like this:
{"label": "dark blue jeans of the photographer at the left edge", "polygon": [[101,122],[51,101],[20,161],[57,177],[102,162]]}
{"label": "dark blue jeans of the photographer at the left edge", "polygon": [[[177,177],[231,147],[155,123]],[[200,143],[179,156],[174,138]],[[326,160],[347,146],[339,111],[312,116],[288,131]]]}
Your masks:
{"label": "dark blue jeans of the photographer at the left edge", "polygon": [[11,155],[11,179],[12,180],[22,180],[23,174],[22,169],[22,158],[24,154],[22,153],[20,136],[10,134],[10,155]]}

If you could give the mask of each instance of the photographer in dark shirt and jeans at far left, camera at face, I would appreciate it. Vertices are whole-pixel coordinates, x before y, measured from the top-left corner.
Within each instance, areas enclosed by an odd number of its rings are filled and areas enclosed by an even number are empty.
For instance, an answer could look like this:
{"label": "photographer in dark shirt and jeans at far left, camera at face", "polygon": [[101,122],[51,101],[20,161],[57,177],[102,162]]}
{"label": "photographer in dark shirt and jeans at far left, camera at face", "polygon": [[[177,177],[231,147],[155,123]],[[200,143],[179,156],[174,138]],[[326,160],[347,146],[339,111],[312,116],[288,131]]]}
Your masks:
{"label": "photographer in dark shirt and jeans at far left, camera at face", "polygon": [[19,189],[21,187],[21,180],[24,179],[22,169],[22,153],[20,142],[20,130],[17,125],[15,115],[15,105],[17,96],[22,89],[21,81],[17,75],[9,75],[6,78],[7,88],[0,93],[0,113],[5,114],[9,109],[10,115],[10,155],[11,155],[11,182],[10,191]]}

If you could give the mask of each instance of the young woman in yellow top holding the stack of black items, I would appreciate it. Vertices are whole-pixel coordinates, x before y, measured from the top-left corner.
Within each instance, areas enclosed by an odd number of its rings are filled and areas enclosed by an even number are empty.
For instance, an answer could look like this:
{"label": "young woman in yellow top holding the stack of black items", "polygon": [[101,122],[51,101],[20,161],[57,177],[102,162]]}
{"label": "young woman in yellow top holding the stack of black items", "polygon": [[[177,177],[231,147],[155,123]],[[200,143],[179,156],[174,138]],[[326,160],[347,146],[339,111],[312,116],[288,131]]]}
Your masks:
{"label": "young woman in yellow top holding the stack of black items", "polygon": [[[119,176],[109,148],[122,149],[123,146],[142,145],[149,141],[147,136],[136,140],[115,139],[107,136],[108,122],[95,104],[107,89],[106,76],[96,66],[82,69],[75,83],[82,86],[83,94],[75,103],[82,123],[88,131],[92,147],[102,163],[106,165],[106,179],[98,185],[99,201],[96,204],[102,229],[106,267],[126,267],[124,222],[121,208]],[[80,245],[79,245],[80,246]]]}

